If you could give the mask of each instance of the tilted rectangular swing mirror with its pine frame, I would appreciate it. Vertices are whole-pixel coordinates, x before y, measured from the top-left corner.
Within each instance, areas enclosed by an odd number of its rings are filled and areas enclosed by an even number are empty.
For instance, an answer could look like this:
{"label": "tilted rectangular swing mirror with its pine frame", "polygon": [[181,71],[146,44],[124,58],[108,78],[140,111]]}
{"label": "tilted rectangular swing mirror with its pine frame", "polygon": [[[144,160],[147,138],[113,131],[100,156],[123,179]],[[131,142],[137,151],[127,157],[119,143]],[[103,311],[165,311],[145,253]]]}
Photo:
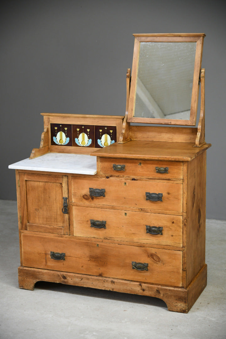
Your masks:
{"label": "tilted rectangular swing mirror with its pine frame", "polygon": [[205,34],[134,34],[128,121],[196,125]]}

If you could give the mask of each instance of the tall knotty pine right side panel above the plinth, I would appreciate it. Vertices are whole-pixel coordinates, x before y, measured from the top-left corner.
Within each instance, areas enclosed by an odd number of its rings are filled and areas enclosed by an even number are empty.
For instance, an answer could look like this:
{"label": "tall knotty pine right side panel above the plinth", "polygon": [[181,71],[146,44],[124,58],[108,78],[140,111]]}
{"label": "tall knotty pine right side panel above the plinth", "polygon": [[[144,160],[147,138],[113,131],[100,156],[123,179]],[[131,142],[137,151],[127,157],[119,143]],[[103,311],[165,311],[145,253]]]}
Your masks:
{"label": "tall knotty pine right side panel above the plinth", "polygon": [[187,164],[187,284],[205,264],[206,152]]}

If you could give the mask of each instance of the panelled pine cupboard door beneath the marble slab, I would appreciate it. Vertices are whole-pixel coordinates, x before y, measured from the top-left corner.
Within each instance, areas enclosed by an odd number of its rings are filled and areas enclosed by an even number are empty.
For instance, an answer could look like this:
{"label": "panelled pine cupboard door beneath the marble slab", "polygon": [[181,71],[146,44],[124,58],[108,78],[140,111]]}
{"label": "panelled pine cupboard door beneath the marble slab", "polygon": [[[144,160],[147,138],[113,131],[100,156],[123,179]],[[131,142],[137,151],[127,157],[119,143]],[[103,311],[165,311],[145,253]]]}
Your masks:
{"label": "panelled pine cupboard door beneath the marble slab", "polygon": [[69,235],[67,176],[20,173],[20,202],[22,230]]}

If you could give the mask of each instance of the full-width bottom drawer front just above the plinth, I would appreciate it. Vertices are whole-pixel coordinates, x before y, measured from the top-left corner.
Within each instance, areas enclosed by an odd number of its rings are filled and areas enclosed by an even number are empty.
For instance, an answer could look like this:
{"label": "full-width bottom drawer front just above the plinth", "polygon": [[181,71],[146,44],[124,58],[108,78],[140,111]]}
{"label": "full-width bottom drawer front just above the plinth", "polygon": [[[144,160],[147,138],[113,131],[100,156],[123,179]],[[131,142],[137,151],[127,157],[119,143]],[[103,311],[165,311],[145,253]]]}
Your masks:
{"label": "full-width bottom drawer front just above the plinth", "polygon": [[[26,267],[182,285],[181,251],[32,234],[22,234],[21,238],[23,266]],[[50,253],[56,259],[51,258]],[[65,256],[60,259],[62,253]]]}

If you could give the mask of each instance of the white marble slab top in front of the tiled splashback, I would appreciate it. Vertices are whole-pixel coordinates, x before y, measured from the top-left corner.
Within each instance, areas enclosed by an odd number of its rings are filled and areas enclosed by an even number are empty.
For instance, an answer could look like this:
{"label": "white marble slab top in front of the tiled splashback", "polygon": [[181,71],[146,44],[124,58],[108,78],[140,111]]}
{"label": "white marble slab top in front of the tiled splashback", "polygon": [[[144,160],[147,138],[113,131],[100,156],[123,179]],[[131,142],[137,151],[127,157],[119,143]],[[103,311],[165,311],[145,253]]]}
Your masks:
{"label": "white marble slab top in front of the tiled splashback", "polygon": [[97,157],[84,154],[46,153],[34,159],[27,158],[15,162],[8,168],[94,175],[97,173]]}

